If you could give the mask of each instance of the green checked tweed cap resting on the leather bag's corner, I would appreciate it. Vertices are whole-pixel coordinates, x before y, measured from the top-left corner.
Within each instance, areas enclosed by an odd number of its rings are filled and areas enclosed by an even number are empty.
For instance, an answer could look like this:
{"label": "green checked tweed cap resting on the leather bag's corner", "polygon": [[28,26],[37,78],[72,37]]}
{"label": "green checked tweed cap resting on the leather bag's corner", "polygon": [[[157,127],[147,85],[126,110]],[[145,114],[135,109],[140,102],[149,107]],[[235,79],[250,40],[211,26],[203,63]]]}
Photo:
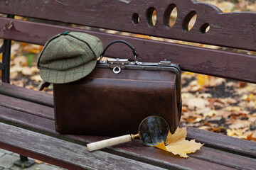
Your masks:
{"label": "green checked tweed cap resting on the leather bag's corner", "polygon": [[92,72],[103,51],[99,38],[86,33],[61,33],[50,38],[41,51],[37,67],[41,78],[53,84],[82,79]]}

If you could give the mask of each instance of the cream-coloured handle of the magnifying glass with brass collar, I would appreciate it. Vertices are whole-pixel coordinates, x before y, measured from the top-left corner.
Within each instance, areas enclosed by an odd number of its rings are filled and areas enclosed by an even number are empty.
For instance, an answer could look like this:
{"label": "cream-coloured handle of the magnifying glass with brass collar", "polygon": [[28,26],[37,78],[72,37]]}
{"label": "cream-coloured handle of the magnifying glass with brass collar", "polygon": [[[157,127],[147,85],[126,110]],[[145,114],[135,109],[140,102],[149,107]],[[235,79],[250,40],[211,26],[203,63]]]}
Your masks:
{"label": "cream-coloured handle of the magnifying glass with brass collar", "polygon": [[119,137],[113,137],[107,140],[101,140],[98,142],[93,142],[90,144],[87,144],[87,149],[89,150],[89,152],[98,150],[98,149],[103,149],[105,147],[111,147],[114,145],[119,145],[125,142],[129,142],[134,140],[134,138],[139,137],[139,134],[137,135],[123,135],[123,136],[119,136]]}

